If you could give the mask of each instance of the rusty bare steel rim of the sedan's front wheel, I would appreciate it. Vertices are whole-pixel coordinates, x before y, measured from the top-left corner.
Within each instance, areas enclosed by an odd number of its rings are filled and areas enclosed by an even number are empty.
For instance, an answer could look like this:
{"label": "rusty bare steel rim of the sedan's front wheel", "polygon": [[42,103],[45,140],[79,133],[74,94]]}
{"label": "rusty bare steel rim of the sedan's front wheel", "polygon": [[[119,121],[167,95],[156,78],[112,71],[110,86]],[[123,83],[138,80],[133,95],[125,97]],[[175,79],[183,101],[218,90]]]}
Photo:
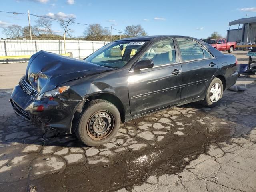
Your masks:
{"label": "rusty bare steel rim of the sedan's front wheel", "polygon": [[110,135],[114,127],[113,115],[108,111],[94,113],[88,121],[87,133],[93,140],[102,140]]}

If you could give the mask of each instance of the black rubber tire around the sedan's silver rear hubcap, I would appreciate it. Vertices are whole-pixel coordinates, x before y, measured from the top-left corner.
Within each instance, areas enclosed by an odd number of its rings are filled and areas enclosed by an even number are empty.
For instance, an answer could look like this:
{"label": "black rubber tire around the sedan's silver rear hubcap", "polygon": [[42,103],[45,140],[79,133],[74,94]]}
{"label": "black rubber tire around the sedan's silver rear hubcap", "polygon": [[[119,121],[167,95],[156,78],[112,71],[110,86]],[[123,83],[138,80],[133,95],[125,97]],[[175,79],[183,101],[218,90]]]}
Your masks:
{"label": "black rubber tire around the sedan's silver rear hubcap", "polygon": [[[220,92],[220,97],[219,99],[216,101],[216,102],[212,102],[210,96],[211,96],[211,88],[213,87],[214,84],[218,83],[220,85],[220,88],[221,88],[221,92]],[[210,85],[208,86],[207,88],[207,92],[206,92],[206,95],[205,95],[205,98],[204,100],[202,101],[202,104],[206,107],[215,107],[221,100],[223,96],[223,84],[222,84],[222,81],[219,79],[219,78],[214,78],[212,80],[212,82],[210,83]]]}

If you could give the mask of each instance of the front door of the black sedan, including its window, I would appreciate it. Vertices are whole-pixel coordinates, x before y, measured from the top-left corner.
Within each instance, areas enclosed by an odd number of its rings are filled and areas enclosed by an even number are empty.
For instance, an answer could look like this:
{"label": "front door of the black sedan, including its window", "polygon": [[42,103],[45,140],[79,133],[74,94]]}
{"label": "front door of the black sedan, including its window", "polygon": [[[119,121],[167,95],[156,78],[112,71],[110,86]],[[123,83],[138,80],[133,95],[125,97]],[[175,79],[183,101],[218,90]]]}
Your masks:
{"label": "front door of the black sedan, including its window", "polygon": [[140,60],[154,61],[153,68],[130,70],[128,89],[132,116],[180,102],[181,65],[173,39],[155,42]]}

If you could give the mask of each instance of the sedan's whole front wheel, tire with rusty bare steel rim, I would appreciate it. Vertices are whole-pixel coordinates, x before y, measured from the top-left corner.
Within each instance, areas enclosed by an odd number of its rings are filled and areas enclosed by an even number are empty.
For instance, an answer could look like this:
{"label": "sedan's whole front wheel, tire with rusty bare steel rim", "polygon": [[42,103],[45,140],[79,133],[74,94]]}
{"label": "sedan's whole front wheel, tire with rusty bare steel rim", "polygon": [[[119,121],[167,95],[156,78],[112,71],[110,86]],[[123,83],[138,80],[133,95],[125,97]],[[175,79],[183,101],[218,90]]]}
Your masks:
{"label": "sedan's whole front wheel, tire with rusty bare steel rim", "polygon": [[92,100],[80,118],[76,136],[88,146],[106,144],[118,132],[120,121],[116,106],[106,100]]}

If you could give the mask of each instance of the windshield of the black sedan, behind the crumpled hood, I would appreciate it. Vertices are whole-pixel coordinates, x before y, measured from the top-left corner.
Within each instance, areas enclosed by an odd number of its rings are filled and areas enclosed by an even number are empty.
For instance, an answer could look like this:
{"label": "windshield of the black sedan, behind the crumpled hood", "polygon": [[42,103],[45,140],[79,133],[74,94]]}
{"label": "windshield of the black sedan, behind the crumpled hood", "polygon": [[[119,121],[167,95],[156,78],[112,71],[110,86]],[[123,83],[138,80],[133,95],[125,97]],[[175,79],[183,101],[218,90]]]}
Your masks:
{"label": "windshield of the black sedan, behind the crumpled hood", "polygon": [[111,42],[85,58],[84,61],[109,68],[121,68],[125,66],[144,45],[144,41]]}

